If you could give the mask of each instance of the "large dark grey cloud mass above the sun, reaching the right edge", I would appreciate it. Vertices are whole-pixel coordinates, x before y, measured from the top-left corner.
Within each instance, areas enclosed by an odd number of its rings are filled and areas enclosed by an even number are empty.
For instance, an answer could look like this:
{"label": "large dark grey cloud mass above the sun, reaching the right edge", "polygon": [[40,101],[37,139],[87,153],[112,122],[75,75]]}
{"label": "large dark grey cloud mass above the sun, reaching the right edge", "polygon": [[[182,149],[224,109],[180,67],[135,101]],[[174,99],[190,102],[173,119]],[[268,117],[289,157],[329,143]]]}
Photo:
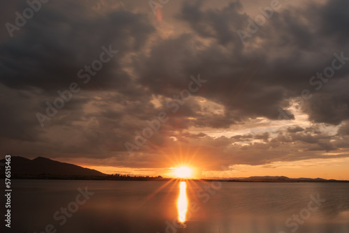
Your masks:
{"label": "large dark grey cloud mass above the sun, reaching the right edge", "polygon": [[[333,51],[340,53],[348,47],[332,43],[333,35],[323,35],[321,25],[312,21],[313,17],[325,17],[327,5],[311,6],[310,13],[307,13],[310,7],[274,13],[269,22],[253,35],[250,43],[242,45],[239,38],[230,36],[247,26],[246,14],[241,13],[239,2],[230,3],[221,10],[203,10],[202,4],[201,1],[184,3],[178,15],[193,29],[195,36],[179,36],[157,43],[152,47],[150,56],[144,58],[144,67],[138,71],[142,84],[165,95],[184,85],[191,73],[205,74],[209,81],[198,94],[225,107],[222,123],[237,123],[246,117],[278,119],[279,107],[288,107],[290,98],[299,96],[304,89],[317,92],[309,84],[310,78],[331,64]],[[296,15],[302,15],[302,19]],[[223,25],[222,28],[215,27],[218,24],[215,20]],[[347,29],[343,27],[342,30]],[[213,39],[209,45],[195,45],[193,41],[200,38]],[[254,43],[259,46],[248,48]],[[318,53],[321,56],[316,55]],[[341,88],[339,82],[348,70],[342,68],[340,75],[329,81],[332,82],[334,99],[324,109],[332,107],[334,113],[327,112],[317,118],[317,110],[307,105],[304,112],[309,114],[310,119],[338,124],[349,116],[346,99],[336,92]],[[322,96],[321,90],[318,95]],[[315,94],[309,104],[313,101],[320,101]],[[221,128],[221,124],[217,128]]]}

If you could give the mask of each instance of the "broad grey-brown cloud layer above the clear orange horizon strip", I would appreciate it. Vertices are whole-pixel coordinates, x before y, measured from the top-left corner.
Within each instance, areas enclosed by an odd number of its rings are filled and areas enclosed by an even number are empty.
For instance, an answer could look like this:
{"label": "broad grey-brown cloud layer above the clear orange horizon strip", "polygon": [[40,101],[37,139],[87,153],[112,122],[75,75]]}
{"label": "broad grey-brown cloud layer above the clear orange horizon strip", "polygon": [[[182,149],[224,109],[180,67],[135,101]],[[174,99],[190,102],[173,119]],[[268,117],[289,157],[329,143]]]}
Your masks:
{"label": "broad grey-brown cloud layer above the clear orange horizon strip", "polygon": [[[25,6],[24,1],[4,4],[1,9],[7,13],[0,17],[1,24],[14,20],[14,12],[8,11]],[[193,153],[197,148],[202,151],[198,158],[214,158],[216,168],[325,158],[316,151],[346,151],[349,63],[321,89],[309,84],[315,73],[331,65],[334,52],[349,57],[346,8],[345,0],[282,8],[242,44],[236,31],[246,29],[252,16],[239,1],[227,1],[222,8],[183,1],[168,24],[186,30],[170,37],[162,35],[150,8],[97,10],[82,1],[47,3],[13,38],[3,36],[7,31],[1,29],[1,153],[115,158],[115,165],[157,167],[158,158],[171,154],[167,146],[173,146]],[[82,84],[77,71],[97,59],[103,45],[119,53],[89,84]],[[124,142],[133,141],[145,120],[170,112],[166,101],[186,89],[190,75],[199,73],[207,83],[170,115],[140,154],[128,156]],[[36,112],[45,112],[45,102],[57,98],[57,90],[67,89],[70,82],[81,84],[82,92],[40,128]],[[279,107],[290,107],[303,89],[313,97],[302,112],[314,123],[342,123],[337,135],[299,126],[276,135],[213,138],[188,133],[191,128],[243,127],[257,117],[277,120]]]}

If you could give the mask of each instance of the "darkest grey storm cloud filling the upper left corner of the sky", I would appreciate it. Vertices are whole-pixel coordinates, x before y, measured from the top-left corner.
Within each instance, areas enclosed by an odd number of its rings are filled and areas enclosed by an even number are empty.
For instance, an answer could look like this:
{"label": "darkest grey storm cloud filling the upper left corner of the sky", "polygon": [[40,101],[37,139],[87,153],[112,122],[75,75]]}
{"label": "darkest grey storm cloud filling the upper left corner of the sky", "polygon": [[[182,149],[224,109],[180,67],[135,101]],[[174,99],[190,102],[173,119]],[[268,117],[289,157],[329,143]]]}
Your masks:
{"label": "darkest grey storm cloud filling the upper left corner of the sky", "polygon": [[102,46],[112,45],[122,52],[104,65],[87,88],[127,87],[131,80],[120,60],[138,51],[154,31],[147,17],[122,9],[99,15],[77,3],[69,10],[64,6],[47,3],[13,38],[1,43],[0,82],[14,89],[61,89],[77,80],[78,70],[99,58]]}

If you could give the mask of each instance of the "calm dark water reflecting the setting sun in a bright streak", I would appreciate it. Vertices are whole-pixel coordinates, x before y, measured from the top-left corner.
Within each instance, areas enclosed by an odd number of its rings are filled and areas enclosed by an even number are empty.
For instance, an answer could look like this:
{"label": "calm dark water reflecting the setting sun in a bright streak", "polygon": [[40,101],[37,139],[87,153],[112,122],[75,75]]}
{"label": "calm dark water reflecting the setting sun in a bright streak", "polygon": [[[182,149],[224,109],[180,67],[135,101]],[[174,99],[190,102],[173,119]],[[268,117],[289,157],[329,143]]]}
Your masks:
{"label": "calm dark water reflecting the setting sun in a bright streak", "polygon": [[349,233],[348,183],[14,180],[11,207],[10,232]]}

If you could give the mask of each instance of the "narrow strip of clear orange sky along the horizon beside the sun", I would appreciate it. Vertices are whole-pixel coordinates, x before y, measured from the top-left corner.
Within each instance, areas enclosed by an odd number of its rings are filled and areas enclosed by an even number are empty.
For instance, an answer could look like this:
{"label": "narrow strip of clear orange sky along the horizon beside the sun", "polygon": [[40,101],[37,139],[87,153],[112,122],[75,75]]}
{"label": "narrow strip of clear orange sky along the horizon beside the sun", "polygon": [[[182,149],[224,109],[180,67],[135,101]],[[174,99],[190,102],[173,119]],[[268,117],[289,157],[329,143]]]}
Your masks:
{"label": "narrow strip of clear orange sky along the horizon beside the sun", "polygon": [[[130,167],[93,166],[81,165],[89,169],[98,170],[105,174],[130,174],[144,176],[165,176],[173,177],[171,167],[167,168],[143,168],[135,169]],[[191,166],[189,166],[191,167]],[[248,176],[288,176],[289,178],[322,178],[349,180],[349,158],[333,160],[312,159],[295,162],[278,162],[269,165],[233,165],[229,171],[208,171],[191,167],[194,170],[192,178],[229,178]]]}

